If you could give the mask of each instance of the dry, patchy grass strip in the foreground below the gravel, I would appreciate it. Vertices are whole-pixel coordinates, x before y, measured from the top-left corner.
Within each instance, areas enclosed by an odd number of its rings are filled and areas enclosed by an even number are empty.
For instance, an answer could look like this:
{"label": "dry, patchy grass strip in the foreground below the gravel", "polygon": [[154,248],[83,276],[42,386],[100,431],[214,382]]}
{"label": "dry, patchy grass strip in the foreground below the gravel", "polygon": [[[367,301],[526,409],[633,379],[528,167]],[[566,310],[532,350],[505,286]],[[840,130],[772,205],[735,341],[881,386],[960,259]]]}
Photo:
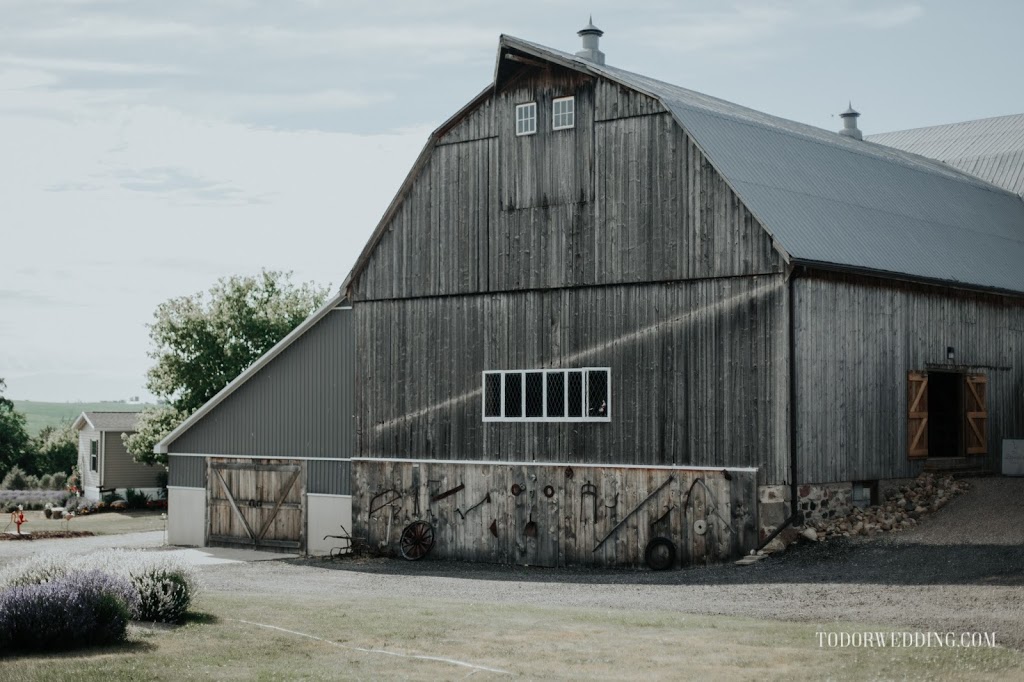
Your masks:
{"label": "dry, patchy grass strip in the foreground below the gravel", "polygon": [[1004,648],[819,648],[819,630],[890,630],[854,624],[240,590],[203,594],[191,622],[135,628],[122,646],[3,659],[0,680],[508,677],[484,668],[527,679],[988,680],[1024,670],[1024,654]]}

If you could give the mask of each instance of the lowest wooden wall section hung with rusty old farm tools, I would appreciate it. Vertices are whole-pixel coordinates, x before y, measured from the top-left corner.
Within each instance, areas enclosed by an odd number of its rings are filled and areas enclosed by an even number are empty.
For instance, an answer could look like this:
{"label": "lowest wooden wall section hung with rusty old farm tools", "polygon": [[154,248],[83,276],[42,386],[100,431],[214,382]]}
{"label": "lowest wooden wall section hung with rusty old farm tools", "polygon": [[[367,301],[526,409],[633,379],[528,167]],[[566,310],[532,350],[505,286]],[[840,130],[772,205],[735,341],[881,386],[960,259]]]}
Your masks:
{"label": "lowest wooden wall section hung with rusty old farm tools", "polygon": [[753,470],[731,470],[727,479],[722,469],[353,465],[355,532],[395,552],[416,520],[434,528],[431,558],[493,563],[640,566],[647,543],[667,538],[679,566],[726,560],[757,544]]}

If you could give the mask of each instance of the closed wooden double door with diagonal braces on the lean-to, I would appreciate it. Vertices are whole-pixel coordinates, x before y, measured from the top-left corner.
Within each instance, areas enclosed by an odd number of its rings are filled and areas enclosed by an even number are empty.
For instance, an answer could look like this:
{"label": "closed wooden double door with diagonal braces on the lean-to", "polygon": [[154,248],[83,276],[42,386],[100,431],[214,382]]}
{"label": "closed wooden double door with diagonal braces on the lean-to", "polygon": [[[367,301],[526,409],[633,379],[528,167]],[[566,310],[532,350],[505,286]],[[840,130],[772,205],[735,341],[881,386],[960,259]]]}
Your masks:
{"label": "closed wooden double door with diagonal braces on the lean-to", "polygon": [[302,465],[211,460],[210,542],[302,549]]}

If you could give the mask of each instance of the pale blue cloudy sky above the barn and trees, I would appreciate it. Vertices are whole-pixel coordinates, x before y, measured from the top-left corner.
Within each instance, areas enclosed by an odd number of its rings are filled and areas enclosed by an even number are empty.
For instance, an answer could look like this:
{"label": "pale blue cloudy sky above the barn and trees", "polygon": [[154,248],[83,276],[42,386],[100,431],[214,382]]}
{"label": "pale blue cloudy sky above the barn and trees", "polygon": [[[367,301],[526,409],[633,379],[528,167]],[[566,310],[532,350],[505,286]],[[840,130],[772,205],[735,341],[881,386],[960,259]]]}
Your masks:
{"label": "pale blue cloudy sky above the barn and trees", "polygon": [[340,286],[501,34],[865,134],[1024,113],[1024,3],[0,0],[0,378],[151,398],[157,305]]}

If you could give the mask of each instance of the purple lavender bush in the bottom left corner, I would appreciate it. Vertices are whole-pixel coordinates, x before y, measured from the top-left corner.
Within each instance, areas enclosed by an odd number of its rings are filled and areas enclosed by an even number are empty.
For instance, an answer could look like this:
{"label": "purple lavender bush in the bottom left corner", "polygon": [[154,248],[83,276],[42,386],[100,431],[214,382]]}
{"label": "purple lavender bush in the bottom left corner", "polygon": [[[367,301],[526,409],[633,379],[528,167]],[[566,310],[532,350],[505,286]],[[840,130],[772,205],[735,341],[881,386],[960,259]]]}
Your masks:
{"label": "purple lavender bush in the bottom left corner", "polygon": [[99,570],[0,592],[0,652],[73,649],[124,641],[139,609],[126,579]]}

